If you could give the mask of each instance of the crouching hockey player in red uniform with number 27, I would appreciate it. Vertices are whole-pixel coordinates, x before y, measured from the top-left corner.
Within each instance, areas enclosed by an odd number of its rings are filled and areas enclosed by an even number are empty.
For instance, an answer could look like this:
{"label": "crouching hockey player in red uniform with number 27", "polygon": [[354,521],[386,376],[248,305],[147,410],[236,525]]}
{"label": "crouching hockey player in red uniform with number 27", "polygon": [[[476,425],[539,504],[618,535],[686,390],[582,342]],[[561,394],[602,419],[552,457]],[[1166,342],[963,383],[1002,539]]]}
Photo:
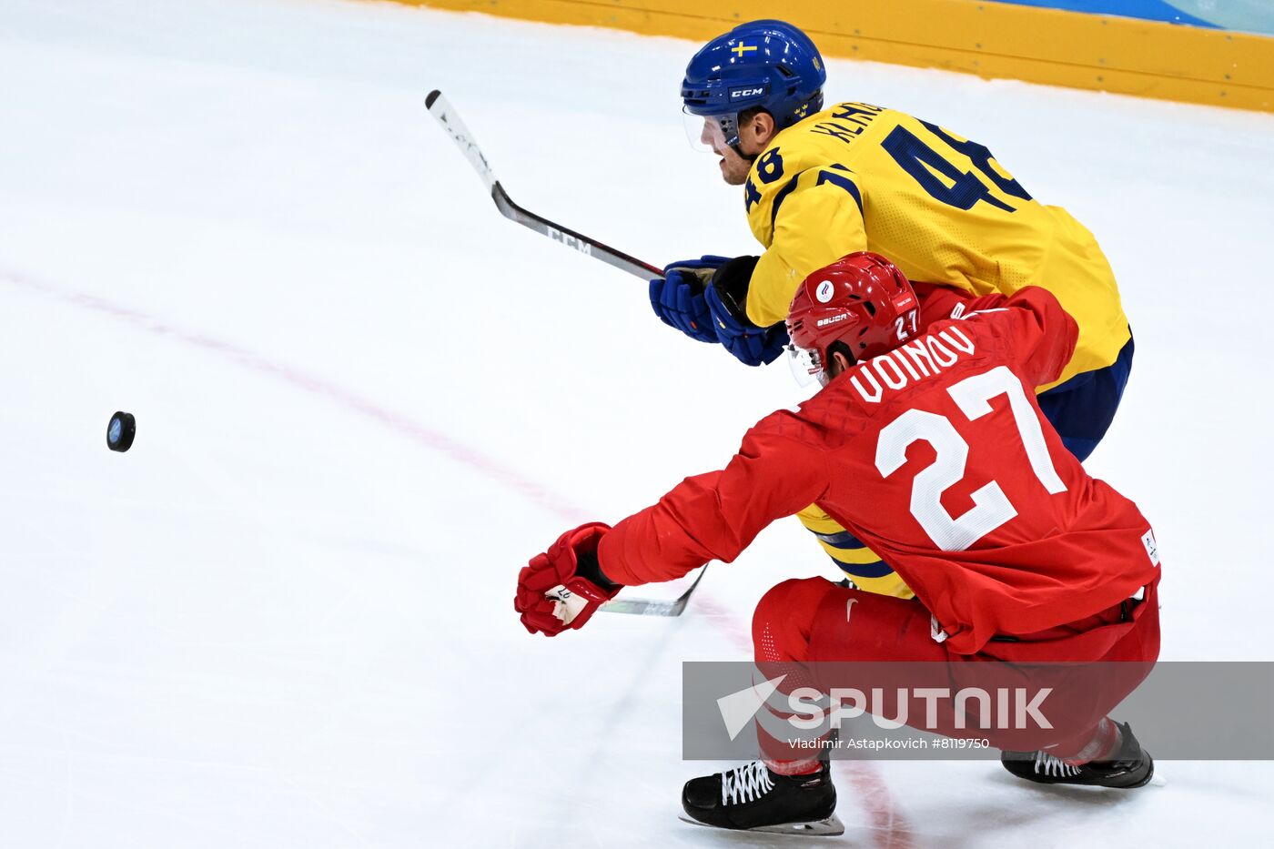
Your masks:
{"label": "crouching hockey player in red uniform with number 27", "polygon": [[[729,562],[813,502],[915,599],[784,581],[755,611],[758,663],[925,660],[959,676],[980,665],[971,660],[1136,662],[1139,673],[1092,688],[1089,713],[1047,753],[1005,766],[1040,781],[1145,784],[1149,755],[1106,711],[1158,657],[1154,534],[1088,477],[1034,399],[1069,359],[1075,323],[1038,287],[990,297],[920,326],[913,288],[884,258],[851,254],[812,274],[787,330],[824,389],[758,422],[724,470],[687,478],[613,529],[563,534],[519,576],[524,625],[580,627],[619,588]],[[545,597],[558,586],[586,602],[573,618]],[[683,804],[699,822],[752,829],[827,821],[836,794],[826,762],[780,753],[689,781]]]}

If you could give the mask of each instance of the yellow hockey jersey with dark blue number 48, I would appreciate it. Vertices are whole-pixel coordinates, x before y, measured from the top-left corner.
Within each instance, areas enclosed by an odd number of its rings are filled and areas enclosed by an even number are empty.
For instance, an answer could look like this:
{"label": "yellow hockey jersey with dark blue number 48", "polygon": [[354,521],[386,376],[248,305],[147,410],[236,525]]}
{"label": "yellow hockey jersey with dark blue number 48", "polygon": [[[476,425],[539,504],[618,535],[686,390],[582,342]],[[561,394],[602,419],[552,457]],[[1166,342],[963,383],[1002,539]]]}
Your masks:
{"label": "yellow hockey jersey with dark blue number 48", "polygon": [[869,250],[912,280],[973,294],[1052,292],[1079,324],[1079,342],[1040,391],[1111,365],[1129,340],[1093,235],[1032,199],[981,144],[903,112],[837,103],[782,130],[753,163],[744,199],[766,246],[747,301],[758,326],[787,317],[808,274]]}

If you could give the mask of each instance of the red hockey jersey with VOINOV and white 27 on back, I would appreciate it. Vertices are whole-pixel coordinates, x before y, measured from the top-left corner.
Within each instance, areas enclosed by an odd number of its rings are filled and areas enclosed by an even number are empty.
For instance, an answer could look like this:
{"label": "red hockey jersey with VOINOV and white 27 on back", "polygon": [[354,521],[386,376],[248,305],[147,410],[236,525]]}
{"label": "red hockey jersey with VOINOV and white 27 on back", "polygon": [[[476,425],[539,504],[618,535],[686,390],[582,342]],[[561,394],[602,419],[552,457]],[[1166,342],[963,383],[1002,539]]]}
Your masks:
{"label": "red hockey jersey with VOINOV and white 27 on back", "polygon": [[1036,404],[1075,338],[1038,287],[935,321],[763,418],[724,470],[620,521],[601,569],[632,585],[729,562],[814,502],[906,580],[953,651],[1107,609],[1159,561],[1136,505],[1091,478]]}

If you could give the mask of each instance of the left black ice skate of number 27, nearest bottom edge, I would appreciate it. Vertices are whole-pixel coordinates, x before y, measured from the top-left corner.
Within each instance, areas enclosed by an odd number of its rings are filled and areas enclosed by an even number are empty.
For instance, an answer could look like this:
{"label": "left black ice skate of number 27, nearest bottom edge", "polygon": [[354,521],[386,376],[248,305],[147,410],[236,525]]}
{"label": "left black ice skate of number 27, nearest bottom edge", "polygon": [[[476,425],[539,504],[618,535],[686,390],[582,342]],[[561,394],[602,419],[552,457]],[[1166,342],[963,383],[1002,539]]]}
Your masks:
{"label": "left black ice skate of number 27, nearest bottom edge", "polygon": [[833,836],[845,834],[836,816],[836,787],[824,762],[810,775],[778,775],[764,761],[691,779],[682,790],[682,818],[719,829]]}

